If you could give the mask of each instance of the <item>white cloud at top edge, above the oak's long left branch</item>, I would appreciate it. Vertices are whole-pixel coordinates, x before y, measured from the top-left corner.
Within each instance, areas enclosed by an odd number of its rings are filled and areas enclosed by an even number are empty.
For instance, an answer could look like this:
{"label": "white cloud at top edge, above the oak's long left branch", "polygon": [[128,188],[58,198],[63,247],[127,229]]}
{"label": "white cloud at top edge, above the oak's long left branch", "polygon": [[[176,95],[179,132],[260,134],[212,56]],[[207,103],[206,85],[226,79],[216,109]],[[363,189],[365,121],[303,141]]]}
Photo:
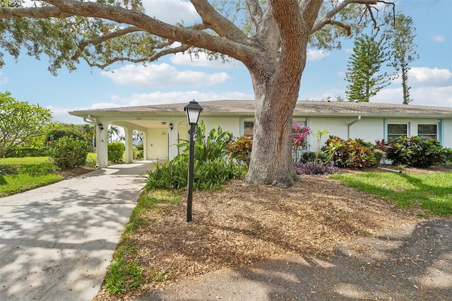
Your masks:
{"label": "white cloud at top edge, above the oak's long left branch", "polygon": [[145,13],[163,22],[174,24],[184,20],[184,24],[201,21],[196,9],[189,1],[183,0],[143,0]]}

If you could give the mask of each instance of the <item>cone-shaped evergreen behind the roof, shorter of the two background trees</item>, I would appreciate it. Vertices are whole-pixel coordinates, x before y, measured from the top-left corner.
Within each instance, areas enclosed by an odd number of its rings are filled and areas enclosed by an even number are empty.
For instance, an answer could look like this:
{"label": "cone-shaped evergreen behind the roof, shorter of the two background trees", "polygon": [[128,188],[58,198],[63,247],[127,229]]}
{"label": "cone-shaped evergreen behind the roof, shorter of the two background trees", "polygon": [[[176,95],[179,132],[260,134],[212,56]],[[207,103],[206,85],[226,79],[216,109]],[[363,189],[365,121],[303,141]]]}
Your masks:
{"label": "cone-shaped evergreen behind the roof, shorter of the two background trees", "polygon": [[388,74],[378,73],[388,60],[385,44],[383,39],[377,41],[376,34],[360,35],[355,40],[345,73],[345,81],[350,83],[345,91],[348,100],[369,102],[369,98],[389,84]]}

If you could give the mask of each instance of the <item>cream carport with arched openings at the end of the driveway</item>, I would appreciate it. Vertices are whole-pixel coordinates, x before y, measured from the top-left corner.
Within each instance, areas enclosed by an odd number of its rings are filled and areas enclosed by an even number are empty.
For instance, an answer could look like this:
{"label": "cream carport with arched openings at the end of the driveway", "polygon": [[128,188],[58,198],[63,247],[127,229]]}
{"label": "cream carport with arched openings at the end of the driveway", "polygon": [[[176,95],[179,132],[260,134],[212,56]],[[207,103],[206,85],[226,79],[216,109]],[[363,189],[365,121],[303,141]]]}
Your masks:
{"label": "cream carport with arched openings at the end of the driveway", "polygon": [[179,139],[188,139],[184,105],[119,107],[73,111],[69,114],[95,125],[97,165],[108,166],[109,125],[124,129],[126,163],[133,163],[133,131],[143,133],[143,160],[171,160],[178,153]]}

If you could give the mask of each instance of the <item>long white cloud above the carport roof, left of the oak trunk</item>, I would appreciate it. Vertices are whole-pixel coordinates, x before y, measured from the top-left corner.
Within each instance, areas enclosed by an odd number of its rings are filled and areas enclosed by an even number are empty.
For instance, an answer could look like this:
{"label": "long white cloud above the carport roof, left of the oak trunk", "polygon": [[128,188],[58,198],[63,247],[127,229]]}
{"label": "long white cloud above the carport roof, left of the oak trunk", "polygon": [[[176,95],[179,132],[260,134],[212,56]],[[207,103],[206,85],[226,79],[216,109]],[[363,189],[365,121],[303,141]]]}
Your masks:
{"label": "long white cloud above the carport roof, left of the oak trunk", "polygon": [[114,69],[113,72],[102,71],[100,74],[119,85],[160,88],[173,85],[210,86],[225,83],[230,79],[225,72],[208,74],[199,71],[179,71],[169,64],[150,64],[148,66],[129,64]]}

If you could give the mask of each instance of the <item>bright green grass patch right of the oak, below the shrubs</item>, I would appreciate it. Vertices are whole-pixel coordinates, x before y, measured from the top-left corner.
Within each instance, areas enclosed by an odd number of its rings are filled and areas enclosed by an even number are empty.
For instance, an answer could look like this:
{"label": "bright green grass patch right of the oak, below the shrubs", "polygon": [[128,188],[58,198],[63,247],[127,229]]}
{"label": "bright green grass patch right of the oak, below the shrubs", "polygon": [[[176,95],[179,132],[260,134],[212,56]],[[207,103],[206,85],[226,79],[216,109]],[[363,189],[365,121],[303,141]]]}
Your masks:
{"label": "bright green grass patch right of the oak, below the shrubs", "polygon": [[393,201],[400,207],[419,205],[435,216],[452,216],[452,172],[422,175],[367,172],[330,177],[349,187]]}

